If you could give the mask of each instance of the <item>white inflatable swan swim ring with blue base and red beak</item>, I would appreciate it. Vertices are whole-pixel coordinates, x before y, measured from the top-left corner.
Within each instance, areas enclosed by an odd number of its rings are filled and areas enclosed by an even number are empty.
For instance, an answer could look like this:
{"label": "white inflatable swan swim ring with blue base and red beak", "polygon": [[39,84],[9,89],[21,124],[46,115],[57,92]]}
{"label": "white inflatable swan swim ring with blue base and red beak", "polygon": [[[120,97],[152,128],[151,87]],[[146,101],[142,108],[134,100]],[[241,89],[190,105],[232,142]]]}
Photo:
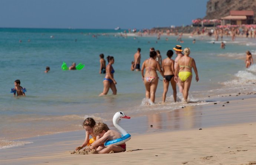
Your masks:
{"label": "white inflatable swan swim ring with blue base and red beak", "polygon": [[106,141],[104,143],[105,147],[111,144],[119,145],[131,139],[131,135],[128,134],[122,127],[118,125],[118,121],[121,120],[121,118],[131,118],[131,117],[126,116],[122,111],[116,112],[113,117],[113,124],[116,127],[116,129],[118,129],[118,131],[121,132],[122,137],[115,140]]}

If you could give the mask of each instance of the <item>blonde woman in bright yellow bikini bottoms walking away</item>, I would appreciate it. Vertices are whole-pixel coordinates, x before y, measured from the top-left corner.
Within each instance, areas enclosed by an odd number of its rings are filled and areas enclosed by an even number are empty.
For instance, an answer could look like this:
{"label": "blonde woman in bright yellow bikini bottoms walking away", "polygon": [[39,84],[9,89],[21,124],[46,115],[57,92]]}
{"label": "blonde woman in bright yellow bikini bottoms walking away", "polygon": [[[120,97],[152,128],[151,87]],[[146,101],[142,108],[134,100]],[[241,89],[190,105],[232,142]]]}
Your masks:
{"label": "blonde woman in bright yellow bikini bottoms walking away", "polygon": [[178,79],[181,81],[181,86],[183,87],[183,97],[184,100],[187,102],[188,98],[188,90],[191,85],[192,80],[192,68],[194,69],[194,72],[196,74],[196,81],[198,82],[198,73],[196,68],[196,62],[193,58],[191,58],[190,55],[190,48],[184,49],[184,56],[181,57],[178,61],[178,65],[175,68],[175,77],[174,80],[177,83]]}

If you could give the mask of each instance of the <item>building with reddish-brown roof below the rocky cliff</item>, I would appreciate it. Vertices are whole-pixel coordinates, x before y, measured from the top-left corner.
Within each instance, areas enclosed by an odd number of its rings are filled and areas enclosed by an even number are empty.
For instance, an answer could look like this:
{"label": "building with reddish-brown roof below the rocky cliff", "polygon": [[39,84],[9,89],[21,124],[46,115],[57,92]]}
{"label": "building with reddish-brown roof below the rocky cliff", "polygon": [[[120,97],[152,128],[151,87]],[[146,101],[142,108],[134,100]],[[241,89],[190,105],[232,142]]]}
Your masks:
{"label": "building with reddish-brown roof below the rocky cliff", "polygon": [[253,19],[253,10],[231,10],[229,16],[221,17],[221,25],[253,24]]}

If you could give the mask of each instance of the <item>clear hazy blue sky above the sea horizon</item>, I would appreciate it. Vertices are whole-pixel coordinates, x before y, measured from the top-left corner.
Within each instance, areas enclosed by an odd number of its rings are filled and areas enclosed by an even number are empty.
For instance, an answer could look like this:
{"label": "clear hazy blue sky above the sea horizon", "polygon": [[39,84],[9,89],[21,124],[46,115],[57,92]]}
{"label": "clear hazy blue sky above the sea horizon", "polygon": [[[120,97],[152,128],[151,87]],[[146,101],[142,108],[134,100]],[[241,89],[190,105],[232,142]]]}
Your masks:
{"label": "clear hazy blue sky above the sea horizon", "polygon": [[114,29],[190,25],[208,0],[0,0],[0,27]]}

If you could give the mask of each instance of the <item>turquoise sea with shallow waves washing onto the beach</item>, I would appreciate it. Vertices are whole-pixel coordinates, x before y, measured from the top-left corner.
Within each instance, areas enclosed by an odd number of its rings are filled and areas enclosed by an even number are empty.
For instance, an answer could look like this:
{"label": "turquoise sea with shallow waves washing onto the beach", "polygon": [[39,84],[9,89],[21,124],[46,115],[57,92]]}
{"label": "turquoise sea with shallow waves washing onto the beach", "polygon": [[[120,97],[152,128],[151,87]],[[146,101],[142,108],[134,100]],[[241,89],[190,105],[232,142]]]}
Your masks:
{"label": "turquoise sea with shallow waves washing onto the beach", "polygon": [[[224,37],[226,48],[220,49],[220,44],[213,44],[214,39],[208,36],[184,36],[181,44],[177,36],[161,36],[160,40],[136,34],[124,37],[122,30],[0,28],[0,36],[0,148],[19,145],[12,141],[15,139],[81,130],[86,117],[111,121],[119,110],[129,116],[144,116],[184,105],[207,104],[209,97],[249,93],[256,88],[256,65],[247,69],[244,63],[246,50],[256,54],[255,39],[237,38],[232,42]],[[159,49],[164,59],[177,44],[183,49],[189,47],[190,56],[196,61],[199,82],[193,75],[189,93],[193,103],[181,102],[181,93],[174,103],[169,86],[167,103],[159,104],[163,93],[163,82],[159,81],[157,104],[146,105],[141,72],[130,71],[134,53],[141,48],[142,66],[151,47]],[[107,96],[98,96],[105,76],[99,74],[102,53],[105,59],[108,55],[115,58],[116,96],[111,90]],[[85,68],[62,71],[62,62],[68,66],[72,62],[83,63]],[[46,66],[50,67],[49,73],[44,73]],[[162,79],[160,73],[158,76]],[[16,79],[26,87],[26,97],[13,97],[10,93]]]}

